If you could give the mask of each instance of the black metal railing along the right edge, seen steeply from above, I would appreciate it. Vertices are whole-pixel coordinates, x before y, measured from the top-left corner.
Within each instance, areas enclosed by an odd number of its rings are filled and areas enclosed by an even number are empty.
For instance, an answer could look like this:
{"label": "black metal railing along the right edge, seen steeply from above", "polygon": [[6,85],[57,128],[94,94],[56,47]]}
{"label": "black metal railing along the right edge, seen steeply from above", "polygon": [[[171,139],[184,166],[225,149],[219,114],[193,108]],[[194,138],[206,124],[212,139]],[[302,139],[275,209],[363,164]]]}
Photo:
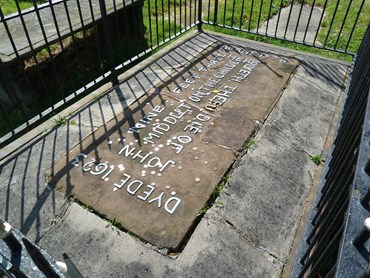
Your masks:
{"label": "black metal railing along the right edge, seen steeply from above", "polygon": [[369,61],[370,27],[355,58],[334,145],[292,277],[370,275],[366,243],[370,232],[363,226],[370,217]]}

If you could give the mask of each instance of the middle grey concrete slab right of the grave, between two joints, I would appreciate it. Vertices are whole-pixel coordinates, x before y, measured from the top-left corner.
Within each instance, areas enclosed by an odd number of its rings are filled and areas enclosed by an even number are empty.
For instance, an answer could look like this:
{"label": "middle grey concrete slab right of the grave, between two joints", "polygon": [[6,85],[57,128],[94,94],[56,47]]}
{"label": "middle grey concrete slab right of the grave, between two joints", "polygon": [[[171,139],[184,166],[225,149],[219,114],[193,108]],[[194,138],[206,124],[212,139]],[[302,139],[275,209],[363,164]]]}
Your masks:
{"label": "middle grey concrete slab right of the grave, between two joints", "polygon": [[241,159],[218,200],[224,207],[217,210],[255,246],[284,262],[315,165],[271,129],[261,130],[263,137]]}

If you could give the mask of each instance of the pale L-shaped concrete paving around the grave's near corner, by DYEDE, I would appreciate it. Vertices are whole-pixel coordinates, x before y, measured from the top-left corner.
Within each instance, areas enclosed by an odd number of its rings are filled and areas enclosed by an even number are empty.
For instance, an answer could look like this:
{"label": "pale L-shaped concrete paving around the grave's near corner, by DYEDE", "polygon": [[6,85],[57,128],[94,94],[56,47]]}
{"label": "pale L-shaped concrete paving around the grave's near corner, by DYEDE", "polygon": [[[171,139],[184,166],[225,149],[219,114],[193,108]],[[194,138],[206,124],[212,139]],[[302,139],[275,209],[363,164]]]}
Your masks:
{"label": "pale L-shaped concrete paving around the grave's near corner, by DYEDE", "polygon": [[74,203],[41,245],[57,254],[57,260],[63,246],[86,277],[278,277],[282,267],[213,210],[177,259],[160,254]]}

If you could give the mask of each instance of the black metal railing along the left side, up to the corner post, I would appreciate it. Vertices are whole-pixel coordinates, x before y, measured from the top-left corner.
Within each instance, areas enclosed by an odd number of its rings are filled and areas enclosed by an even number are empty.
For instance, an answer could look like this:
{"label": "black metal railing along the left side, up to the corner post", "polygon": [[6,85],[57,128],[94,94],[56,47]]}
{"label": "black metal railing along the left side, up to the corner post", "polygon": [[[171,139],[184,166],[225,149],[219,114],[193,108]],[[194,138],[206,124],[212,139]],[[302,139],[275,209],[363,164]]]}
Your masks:
{"label": "black metal railing along the left side, up to the corner post", "polygon": [[[2,2],[0,2],[1,4]],[[198,22],[197,0],[10,0],[0,5],[0,146]],[[21,9],[21,4],[30,5]]]}

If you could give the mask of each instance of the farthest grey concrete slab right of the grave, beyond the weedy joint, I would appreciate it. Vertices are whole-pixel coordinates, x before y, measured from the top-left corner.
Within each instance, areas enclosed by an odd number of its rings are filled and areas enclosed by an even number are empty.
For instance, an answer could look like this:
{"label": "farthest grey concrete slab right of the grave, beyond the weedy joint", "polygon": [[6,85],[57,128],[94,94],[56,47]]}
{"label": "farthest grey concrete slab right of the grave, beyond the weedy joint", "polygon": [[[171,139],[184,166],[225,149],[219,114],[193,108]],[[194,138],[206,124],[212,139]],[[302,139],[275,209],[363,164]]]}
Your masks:
{"label": "farthest grey concrete slab right of the grave, beyond the weedy joint", "polygon": [[[310,77],[302,66],[285,91],[289,101],[281,99],[268,123],[280,129],[292,144],[307,154],[321,155],[340,88]],[[307,105],[309,102],[312,104]]]}

